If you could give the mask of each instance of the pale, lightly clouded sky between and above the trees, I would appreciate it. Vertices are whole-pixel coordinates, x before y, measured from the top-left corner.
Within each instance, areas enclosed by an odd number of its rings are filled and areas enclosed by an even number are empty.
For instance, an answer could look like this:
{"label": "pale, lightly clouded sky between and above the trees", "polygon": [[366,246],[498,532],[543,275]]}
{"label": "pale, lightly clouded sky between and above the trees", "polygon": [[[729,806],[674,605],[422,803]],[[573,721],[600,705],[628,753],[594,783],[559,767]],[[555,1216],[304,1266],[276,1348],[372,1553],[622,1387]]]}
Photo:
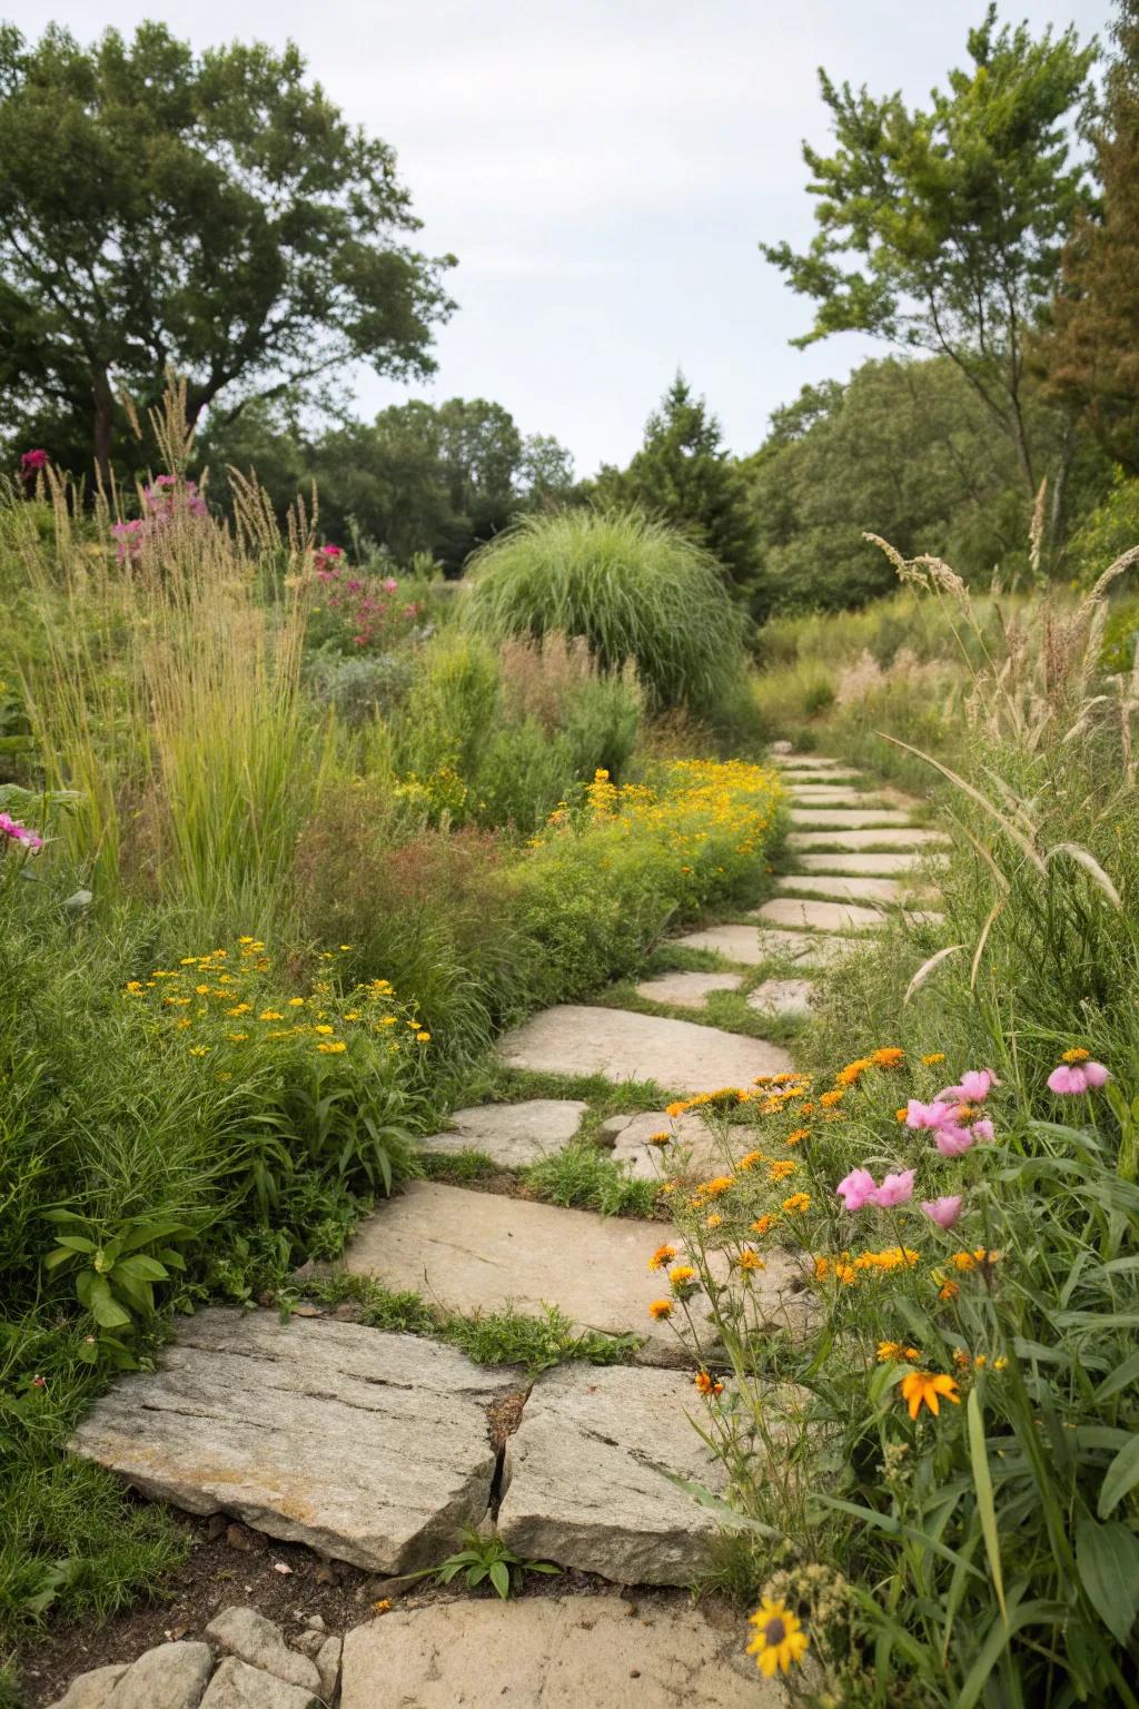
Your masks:
{"label": "pale, lightly clouded sky between and above the trees", "polygon": [[[50,0],[36,17],[84,41],[142,17],[196,48],[295,41],[396,149],[417,244],[459,260],[435,376],[364,371],[357,410],[494,398],[587,475],[628,461],[678,367],[748,455],[772,408],[879,349],[791,349],[811,304],[758,243],[811,238],[799,147],[827,142],[818,67],[924,101],[982,15],[984,0]],[[1110,0],[1001,15],[1103,36]]]}

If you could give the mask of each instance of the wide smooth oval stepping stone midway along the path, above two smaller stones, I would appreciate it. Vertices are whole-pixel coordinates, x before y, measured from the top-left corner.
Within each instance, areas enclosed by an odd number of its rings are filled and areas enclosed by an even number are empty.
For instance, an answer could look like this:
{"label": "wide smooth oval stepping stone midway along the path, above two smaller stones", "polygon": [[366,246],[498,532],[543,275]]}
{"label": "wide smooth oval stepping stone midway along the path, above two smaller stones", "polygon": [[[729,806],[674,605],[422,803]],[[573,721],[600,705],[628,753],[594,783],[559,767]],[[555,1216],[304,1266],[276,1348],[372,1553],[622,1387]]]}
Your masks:
{"label": "wide smooth oval stepping stone midway along the path, above two smaller stones", "polygon": [[743,1039],[695,1020],[577,1003],[546,1008],[507,1032],[499,1042],[499,1056],[507,1068],[531,1073],[601,1073],[618,1084],[656,1080],[675,1092],[716,1092],[794,1068],[784,1049],[760,1039]]}

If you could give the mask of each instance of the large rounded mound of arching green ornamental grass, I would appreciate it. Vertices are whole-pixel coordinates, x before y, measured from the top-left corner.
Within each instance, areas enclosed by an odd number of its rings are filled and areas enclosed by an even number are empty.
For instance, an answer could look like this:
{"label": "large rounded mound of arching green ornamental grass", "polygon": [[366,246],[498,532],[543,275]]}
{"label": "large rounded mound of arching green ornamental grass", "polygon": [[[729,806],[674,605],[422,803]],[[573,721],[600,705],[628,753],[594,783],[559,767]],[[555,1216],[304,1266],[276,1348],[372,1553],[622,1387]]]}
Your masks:
{"label": "large rounded mound of arching green ornamental grass", "polygon": [[599,670],[632,663],[652,704],[704,708],[741,668],[741,622],[716,564],[634,514],[526,518],[476,554],[468,624],[485,634],[584,636]]}

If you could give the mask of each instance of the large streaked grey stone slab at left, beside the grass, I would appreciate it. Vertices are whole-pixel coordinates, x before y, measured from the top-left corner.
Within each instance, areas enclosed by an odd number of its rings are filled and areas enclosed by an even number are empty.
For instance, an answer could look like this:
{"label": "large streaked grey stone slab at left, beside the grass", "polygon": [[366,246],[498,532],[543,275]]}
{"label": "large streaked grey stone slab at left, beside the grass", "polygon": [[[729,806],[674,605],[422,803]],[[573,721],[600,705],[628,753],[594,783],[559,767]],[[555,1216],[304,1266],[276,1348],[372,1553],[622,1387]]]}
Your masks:
{"label": "large streaked grey stone slab at left, beside the grass", "polygon": [[485,1408],[524,1386],[413,1335],[275,1311],[202,1311],[159,1357],[94,1403],[73,1453],[374,1572],[432,1565],[478,1524],[497,1463]]}

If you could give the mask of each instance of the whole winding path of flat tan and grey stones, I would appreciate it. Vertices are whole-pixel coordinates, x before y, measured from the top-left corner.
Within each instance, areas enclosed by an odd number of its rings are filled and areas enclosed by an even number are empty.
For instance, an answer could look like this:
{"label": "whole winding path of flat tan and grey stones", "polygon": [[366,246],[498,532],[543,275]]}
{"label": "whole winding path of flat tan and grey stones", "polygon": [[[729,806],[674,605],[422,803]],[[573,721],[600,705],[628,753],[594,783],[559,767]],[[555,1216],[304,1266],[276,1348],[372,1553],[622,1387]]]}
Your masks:
{"label": "whole winding path of flat tan and grey stones", "polygon": [[[862,788],[857,767],[821,755],[787,752],[779,764],[792,793],[791,872],[746,919],[676,938],[721,966],[644,979],[637,995],[645,1001],[700,1015],[709,996],[736,991],[753,1015],[786,1031],[809,1013],[813,969],[862,954],[891,913],[929,901],[946,837],[912,824],[917,802]],[[499,1056],[505,1068],[562,1082],[651,1082],[669,1097],[792,1066],[782,1042],[601,1005],[534,1015],[500,1041]],[[683,1179],[729,1169],[751,1138],[745,1128],[716,1138],[697,1116],[669,1121],[664,1109],[613,1116],[582,1138],[587,1113],[586,1101],[557,1095],[463,1109],[422,1143],[441,1155],[476,1150],[504,1171],[598,1143],[632,1178],[654,1179],[657,1140],[669,1131],[666,1167]],[[490,1524],[526,1559],[613,1584],[688,1586],[707,1564],[716,1521],[675,1480],[719,1490],[722,1477],[692,1427],[690,1369],[675,1369],[686,1359],[647,1313],[661,1294],[647,1260],[668,1239],[661,1222],[408,1183],[359,1227],[345,1254],[350,1271],[470,1316],[557,1306],[579,1330],[639,1336],[637,1362],[558,1365],[531,1381],[328,1314],[282,1323],[268,1311],[205,1311],[179,1328],[157,1371],[123,1377],[96,1403],[73,1449],[145,1495],[234,1514],[376,1572],[437,1564],[464,1528]],[[811,1295],[794,1254],[768,1256],[755,1297],[772,1330],[809,1326]],[[514,1425],[505,1439],[494,1424],[504,1407]],[[319,1634],[289,1647],[258,1620],[232,1608],[202,1642],[162,1647],[171,1668],[174,1651],[186,1651],[179,1666],[190,1683],[183,1697],[169,1695],[172,1709],[309,1709],[331,1704],[336,1690],[342,1709],[786,1702],[782,1687],[763,1683],[743,1656],[738,1622],[721,1630],[683,1600],[640,1617],[616,1596],[410,1598],[347,1634],[342,1671],[338,1639],[335,1658]],[[138,1688],[150,1688],[150,1666],[159,1663],[143,1656],[101,1670],[106,1680],[75,1682],[77,1695],[63,1702],[142,1709],[126,1687],[137,1675]],[[152,1690],[147,1702],[167,1697]]]}

